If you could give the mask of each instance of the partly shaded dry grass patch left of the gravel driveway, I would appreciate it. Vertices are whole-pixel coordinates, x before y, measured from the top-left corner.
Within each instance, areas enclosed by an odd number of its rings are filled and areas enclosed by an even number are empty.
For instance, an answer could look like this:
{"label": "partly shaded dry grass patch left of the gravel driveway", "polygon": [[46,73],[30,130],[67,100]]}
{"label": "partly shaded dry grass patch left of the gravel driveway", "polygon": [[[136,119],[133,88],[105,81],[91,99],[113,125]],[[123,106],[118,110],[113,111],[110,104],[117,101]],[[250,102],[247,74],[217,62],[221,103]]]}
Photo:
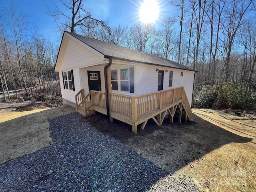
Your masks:
{"label": "partly shaded dry grass patch left of the gravel driveway", "polygon": [[6,109],[3,105],[0,105],[0,164],[52,144],[49,120],[74,112],[70,106],[41,106],[36,110],[19,112],[13,111],[15,107]]}

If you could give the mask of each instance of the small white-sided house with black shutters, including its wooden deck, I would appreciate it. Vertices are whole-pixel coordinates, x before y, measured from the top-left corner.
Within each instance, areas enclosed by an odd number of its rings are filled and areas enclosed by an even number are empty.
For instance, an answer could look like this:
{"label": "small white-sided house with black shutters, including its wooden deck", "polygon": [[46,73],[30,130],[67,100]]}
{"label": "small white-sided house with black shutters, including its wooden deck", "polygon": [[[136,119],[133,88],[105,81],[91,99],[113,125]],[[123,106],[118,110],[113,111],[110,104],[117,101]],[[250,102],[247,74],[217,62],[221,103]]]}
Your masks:
{"label": "small white-sided house with black shutters, including its wooden deck", "polygon": [[[90,109],[102,112],[110,121],[131,124],[134,132],[140,123],[144,128],[147,118],[160,125],[169,113],[173,120],[177,106],[180,119],[184,108],[190,119],[196,71],[176,62],[64,32],[55,71],[64,104],[84,115]],[[138,120],[143,114],[147,117]]]}

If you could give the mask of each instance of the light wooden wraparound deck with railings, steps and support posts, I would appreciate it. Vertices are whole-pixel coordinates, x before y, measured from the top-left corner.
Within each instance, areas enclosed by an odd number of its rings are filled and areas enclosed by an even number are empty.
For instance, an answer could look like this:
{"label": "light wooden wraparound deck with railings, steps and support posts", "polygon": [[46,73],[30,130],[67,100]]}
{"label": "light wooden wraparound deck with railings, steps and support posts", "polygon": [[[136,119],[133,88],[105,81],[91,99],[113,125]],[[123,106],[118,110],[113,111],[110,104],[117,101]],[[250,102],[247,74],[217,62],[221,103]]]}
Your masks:
{"label": "light wooden wraparound deck with railings, steps and support posts", "polygon": [[[76,94],[76,111],[84,116],[90,116],[95,111],[107,114],[106,94],[99,91],[90,91],[87,96],[84,90]],[[169,114],[170,122],[173,122],[176,109],[179,108],[179,122],[181,122],[182,111],[191,121],[191,108],[189,106],[184,88],[176,88],[132,97],[110,93],[110,122],[113,118],[130,124],[132,131],[137,132],[137,126],[142,124],[143,130],[150,118],[160,126],[164,117]]]}

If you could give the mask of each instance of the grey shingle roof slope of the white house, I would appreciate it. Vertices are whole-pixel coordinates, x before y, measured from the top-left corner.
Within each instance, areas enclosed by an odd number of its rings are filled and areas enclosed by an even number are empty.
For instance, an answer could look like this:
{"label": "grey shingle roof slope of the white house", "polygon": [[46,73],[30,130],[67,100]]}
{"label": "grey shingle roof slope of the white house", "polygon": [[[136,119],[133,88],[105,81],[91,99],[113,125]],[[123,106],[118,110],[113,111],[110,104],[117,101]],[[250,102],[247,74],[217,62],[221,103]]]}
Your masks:
{"label": "grey shingle roof slope of the white house", "polygon": [[126,48],[126,47],[122,47],[117,44],[104,42],[101,40],[89,38],[89,37],[78,35],[78,34],[71,33],[71,32],[66,32],[66,33],[77,38],[78,40],[80,40],[84,44],[90,46],[94,50],[100,52],[104,56],[112,56],[113,59],[131,60],[134,62],[141,62],[141,63],[146,63],[146,64],[168,66],[168,67],[172,67],[172,68],[179,68],[179,69],[183,69],[183,70],[195,71],[187,66],[178,64],[178,63],[168,60],[168,59],[160,58],[156,55],[150,55],[150,54],[147,54],[144,52],[140,52],[140,51]]}

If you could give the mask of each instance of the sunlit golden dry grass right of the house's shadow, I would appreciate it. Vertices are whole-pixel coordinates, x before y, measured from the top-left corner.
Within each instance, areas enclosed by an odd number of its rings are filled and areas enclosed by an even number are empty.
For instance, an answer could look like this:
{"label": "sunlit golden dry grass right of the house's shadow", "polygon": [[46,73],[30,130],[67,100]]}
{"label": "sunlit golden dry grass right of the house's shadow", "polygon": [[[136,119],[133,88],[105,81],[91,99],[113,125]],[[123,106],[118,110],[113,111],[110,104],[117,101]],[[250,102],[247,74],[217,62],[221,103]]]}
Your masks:
{"label": "sunlit golden dry grass right of the house's shadow", "polygon": [[192,177],[200,189],[206,192],[255,192],[256,121],[223,120],[218,116],[218,111],[213,111],[214,114],[207,114],[204,110],[193,112],[229,132],[252,140],[245,143],[231,142],[221,146],[184,166],[175,175],[186,174]]}

